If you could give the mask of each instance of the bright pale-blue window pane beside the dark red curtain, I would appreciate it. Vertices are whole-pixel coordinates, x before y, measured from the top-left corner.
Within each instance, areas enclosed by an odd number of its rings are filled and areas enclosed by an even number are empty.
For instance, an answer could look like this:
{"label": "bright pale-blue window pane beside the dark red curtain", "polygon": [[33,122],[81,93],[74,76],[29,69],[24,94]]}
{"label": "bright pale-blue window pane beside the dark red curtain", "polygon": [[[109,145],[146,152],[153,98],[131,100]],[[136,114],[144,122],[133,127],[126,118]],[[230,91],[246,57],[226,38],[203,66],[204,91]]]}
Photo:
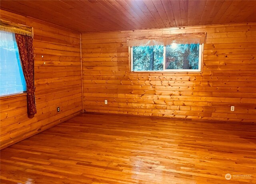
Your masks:
{"label": "bright pale-blue window pane beside the dark red curtain", "polygon": [[0,96],[26,91],[15,33],[0,31]]}

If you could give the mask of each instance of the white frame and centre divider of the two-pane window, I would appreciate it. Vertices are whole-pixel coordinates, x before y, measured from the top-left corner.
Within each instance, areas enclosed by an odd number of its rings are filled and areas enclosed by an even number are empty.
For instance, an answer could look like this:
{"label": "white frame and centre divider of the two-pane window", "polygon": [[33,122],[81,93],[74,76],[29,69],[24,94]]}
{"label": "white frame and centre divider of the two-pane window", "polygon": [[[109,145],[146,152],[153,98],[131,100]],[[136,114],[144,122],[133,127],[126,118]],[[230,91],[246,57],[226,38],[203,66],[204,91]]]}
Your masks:
{"label": "white frame and centre divider of the two-pane window", "polygon": [[130,66],[131,72],[190,72],[190,73],[198,73],[198,72],[202,72],[202,63],[203,63],[203,51],[204,51],[204,43],[199,45],[199,57],[198,57],[198,69],[165,69],[165,65],[166,65],[166,46],[164,45],[164,53],[163,53],[163,57],[164,57],[164,61],[163,61],[163,70],[139,70],[139,71],[134,71],[133,70],[133,49],[132,47],[129,47],[129,51],[130,51]]}

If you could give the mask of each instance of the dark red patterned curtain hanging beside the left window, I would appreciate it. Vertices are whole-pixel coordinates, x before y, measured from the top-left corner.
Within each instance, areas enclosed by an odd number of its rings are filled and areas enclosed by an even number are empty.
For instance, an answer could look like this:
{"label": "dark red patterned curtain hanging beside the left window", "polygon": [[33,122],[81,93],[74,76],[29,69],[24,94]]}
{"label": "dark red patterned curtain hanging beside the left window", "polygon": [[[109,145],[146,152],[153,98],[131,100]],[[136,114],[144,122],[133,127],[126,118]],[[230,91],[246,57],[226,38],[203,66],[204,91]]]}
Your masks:
{"label": "dark red patterned curtain hanging beside the left window", "polygon": [[36,114],[35,85],[34,85],[34,49],[33,38],[15,34],[20,54],[24,77],[27,84],[28,115]]}

